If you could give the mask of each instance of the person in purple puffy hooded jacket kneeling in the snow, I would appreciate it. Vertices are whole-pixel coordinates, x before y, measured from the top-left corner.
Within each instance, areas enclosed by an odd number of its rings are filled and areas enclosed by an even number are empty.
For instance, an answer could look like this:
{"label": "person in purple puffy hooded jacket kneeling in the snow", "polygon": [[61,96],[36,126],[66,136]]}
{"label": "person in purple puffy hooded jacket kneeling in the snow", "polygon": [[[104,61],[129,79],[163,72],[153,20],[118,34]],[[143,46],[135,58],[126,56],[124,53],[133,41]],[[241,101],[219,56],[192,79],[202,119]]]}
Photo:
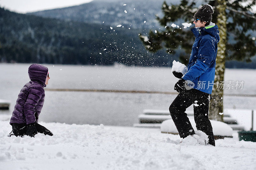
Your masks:
{"label": "person in purple puffy hooded jacket kneeling in the snow", "polygon": [[38,116],[44,105],[44,87],[48,85],[48,68],[32,64],[28,68],[29,81],[20,90],[12,112],[10,124],[15,136],[34,137],[37,132],[52,136],[52,132],[38,124]]}

